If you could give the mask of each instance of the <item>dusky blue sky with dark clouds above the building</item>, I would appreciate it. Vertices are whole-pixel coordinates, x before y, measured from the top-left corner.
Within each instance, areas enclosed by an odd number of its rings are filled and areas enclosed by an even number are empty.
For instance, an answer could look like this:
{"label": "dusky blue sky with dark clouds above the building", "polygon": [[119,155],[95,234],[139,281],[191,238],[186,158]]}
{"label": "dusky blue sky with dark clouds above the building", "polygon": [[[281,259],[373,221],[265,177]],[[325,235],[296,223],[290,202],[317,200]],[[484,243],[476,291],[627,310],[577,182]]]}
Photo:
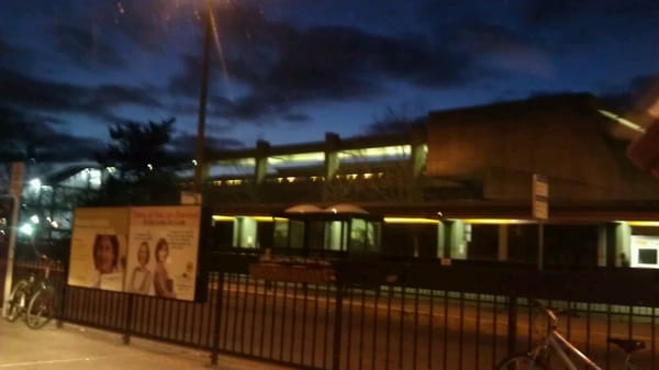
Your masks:
{"label": "dusky blue sky with dark clouds above the building", "polygon": [[[392,115],[592,92],[645,108],[659,91],[656,0],[210,0],[206,141],[216,148],[368,133]],[[56,157],[123,121],[197,130],[204,0],[0,4],[0,120]],[[390,114],[388,112],[393,112]],[[55,155],[55,153],[57,155]]]}

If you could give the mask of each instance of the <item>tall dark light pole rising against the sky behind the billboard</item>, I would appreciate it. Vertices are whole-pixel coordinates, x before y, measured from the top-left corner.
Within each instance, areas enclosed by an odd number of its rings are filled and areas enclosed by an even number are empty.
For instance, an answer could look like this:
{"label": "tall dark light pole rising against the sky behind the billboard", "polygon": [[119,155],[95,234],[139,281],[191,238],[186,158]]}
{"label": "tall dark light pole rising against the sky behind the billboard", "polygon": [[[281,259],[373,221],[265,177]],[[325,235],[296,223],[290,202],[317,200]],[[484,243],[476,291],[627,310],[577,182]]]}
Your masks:
{"label": "tall dark light pole rising against the sky behind the billboard", "polygon": [[204,35],[203,35],[203,55],[201,59],[201,89],[199,93],[199,117],[197,121],[197,162],[194,164],[194,182],[193,191],[197,193],[202,192],[204,182],[205,171],[205,156],[204,156],[204,135],[205,135],[205,115],[206,115],[206,101],[209,96],[209,57],[211,49],[211,12],[212,5],[211,0],[206,1],[206,16],[204,19]]}

